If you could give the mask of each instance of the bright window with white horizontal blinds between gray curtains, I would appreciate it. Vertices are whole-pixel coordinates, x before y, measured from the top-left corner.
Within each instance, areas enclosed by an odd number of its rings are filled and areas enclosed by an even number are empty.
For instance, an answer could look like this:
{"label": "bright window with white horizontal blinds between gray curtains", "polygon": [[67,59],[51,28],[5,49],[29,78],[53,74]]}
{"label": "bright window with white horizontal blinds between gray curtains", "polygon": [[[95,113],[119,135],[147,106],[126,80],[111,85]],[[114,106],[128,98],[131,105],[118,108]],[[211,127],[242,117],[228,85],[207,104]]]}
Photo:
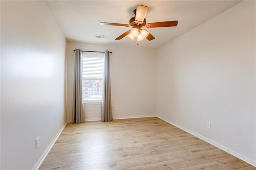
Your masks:
{"label": "bright window with white horizontal blinds between gray curtains", "polygon": [[104,53],[83,53],[83,101],[101,102],[103,90]]}

